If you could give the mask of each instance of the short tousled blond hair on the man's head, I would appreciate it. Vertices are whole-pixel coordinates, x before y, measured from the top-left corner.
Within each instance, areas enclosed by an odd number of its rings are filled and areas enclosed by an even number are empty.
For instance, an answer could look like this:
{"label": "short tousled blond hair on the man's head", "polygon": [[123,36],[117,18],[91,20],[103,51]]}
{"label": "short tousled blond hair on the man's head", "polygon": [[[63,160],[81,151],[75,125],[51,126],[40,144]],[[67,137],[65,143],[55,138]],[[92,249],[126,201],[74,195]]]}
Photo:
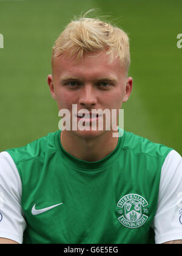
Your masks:
{"label": "short tousled blond hair on the man's head", "polygon": [[121,65],[128,71],[130,50],[127,34],[110,23],[97,18],[85,18],[84,15],[78,20],[71,21],[55,41],[52,49],[52,65],[53,59],[64,52],[70,57],[76,56],[76,60],[79,60],[83,58],[84,52],[104,50],[107,50],[110,62],[114,57],[119,57]]}

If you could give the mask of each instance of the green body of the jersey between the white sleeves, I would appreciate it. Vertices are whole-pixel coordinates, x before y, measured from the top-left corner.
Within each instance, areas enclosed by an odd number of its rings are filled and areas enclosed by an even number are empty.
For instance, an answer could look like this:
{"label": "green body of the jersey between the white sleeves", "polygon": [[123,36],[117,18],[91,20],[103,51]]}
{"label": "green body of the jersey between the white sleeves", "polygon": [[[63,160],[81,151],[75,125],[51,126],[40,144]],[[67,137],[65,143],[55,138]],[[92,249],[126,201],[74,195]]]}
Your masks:
{"label": "green body of the jersey between the white sleeves", "polygon": [[[107,157],[86,162],[66,152],[60,136],[58,130],[5,152],[17,168],[14,183],[21,182],[10,200],[21,205],[23,243],[155,243],[161,169],[172,149],[124,131]],[[22,220],[13,221],[18,229]]]}

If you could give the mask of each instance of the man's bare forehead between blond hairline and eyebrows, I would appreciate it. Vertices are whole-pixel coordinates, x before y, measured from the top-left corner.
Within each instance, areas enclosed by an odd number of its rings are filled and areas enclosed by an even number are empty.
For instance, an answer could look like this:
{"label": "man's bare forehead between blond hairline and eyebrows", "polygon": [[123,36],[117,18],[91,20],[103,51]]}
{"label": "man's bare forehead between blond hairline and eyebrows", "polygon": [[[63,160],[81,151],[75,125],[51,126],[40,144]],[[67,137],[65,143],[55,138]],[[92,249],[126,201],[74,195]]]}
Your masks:
{"label": "man's bare forehead between blond hairline and eyebrows", "polygon": [[65,53],[53,59],[53,76],[77,76],[81,79],[91,79],[100,76],[120,76],[126,75],[126,69],[121,67],[119,58],[114,58],[110,62],[105,51],[84,53],[83,59],[76,61],[74,57],[69,57]]}

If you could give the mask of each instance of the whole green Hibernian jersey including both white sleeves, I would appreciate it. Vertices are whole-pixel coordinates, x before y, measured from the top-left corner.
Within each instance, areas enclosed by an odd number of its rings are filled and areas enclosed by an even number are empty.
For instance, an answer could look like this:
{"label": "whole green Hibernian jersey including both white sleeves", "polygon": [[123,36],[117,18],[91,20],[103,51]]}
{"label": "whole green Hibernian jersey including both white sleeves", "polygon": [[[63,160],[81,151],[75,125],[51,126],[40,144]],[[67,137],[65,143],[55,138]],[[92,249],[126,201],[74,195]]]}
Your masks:
{"label": "whole green Hibernian jersey including both white sleeves", "polygon": [[0,154],[0,237],[25,244],[182,239],[182,161],[124,131],[97,162],[62,148],[61,130]]}

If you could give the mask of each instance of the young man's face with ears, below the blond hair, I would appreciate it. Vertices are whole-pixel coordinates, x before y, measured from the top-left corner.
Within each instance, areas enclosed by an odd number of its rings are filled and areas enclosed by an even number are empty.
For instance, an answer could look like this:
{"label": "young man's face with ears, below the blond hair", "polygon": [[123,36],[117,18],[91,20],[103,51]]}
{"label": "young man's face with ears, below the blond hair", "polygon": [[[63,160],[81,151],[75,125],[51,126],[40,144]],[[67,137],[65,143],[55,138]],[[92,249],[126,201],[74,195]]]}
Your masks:
{"label": "young man's face with ears, below the blond hair", "polygon": [[[53,63],[53,75],[47,78],[50,92],[56,100],[59,110],[67,109],[72,116],[72,105],[79,110],[117,110],[129,99],[132,91],[132,77],[127,77],[125,68],[121,68],[119,59],[109,62],[106,52],[84,54],[83,60],[75,62],[64,54],[56,57]],[[112,115],[111,115],[112,117]],[[76,118],[77,119],[77,118]],[[106,130],[106,115],[103,116],[103,130],[92,130],[92,119],[86,126],[89,130],[70,130],[70,133],[82,138],[93,138],[112,132]],[[79,119],[78,119],[79,121]],[[72,119],[71,119],[72,124]]]}

